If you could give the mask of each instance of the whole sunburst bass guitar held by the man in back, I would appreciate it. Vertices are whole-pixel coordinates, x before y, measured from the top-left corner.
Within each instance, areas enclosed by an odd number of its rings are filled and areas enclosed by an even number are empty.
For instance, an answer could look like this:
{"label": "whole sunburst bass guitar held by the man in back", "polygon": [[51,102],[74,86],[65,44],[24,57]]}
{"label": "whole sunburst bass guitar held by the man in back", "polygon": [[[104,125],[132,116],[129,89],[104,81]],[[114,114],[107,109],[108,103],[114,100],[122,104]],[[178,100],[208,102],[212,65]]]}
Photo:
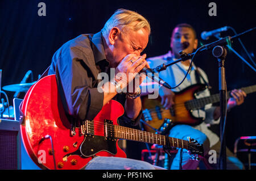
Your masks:
{"label": "whole sunburst bass guitar held by the man in back", "polygon": [[[196,99],[198,92],[205,90],[206,86],[203,84],[196,84],[187,87],[186,89],[175,92],[174,106],[169,110],[165,110],[161,105],[160,98],[148,99],[147,96],[142,98],[143,107],[143,121],[144,129],[148,132],[155,132],[155,129],[164,129],[164,123],[168,122],[167,126],[175,124],[188,124],[198,125],[204,120],[202,117],[195,117],[192,115],[193,110],[203,108],[206,104],[220,102],[220,95],[214,94],[204,98]],[[241,90],[246,94],[250,94],[256,91],[256,85],[242,87]],[[227,92],[228,98],[230,98],[230,91]],[[170,123],[171,120],[171,123]],[[170,129],[170,127],[169,127]]]}

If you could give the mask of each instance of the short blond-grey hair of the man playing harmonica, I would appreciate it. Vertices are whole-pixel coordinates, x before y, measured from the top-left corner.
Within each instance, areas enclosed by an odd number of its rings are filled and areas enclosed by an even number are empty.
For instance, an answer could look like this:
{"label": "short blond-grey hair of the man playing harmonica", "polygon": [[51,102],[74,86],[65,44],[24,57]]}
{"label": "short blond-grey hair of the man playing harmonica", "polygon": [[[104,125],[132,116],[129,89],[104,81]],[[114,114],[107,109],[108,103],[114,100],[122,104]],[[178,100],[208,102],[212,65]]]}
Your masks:
{"label": "short blond-grey hair of the man playing harmonica", "polygon": [[[138,22],[138,23],[134,23]],[[129,30],[138,31],[141,28],[145,28],[150,34],[150,24],[146,18],[137,12],[118,9],[105,23],[101,32],[106,37],[113,27],[118,27],[120,31],[127,32]]]}

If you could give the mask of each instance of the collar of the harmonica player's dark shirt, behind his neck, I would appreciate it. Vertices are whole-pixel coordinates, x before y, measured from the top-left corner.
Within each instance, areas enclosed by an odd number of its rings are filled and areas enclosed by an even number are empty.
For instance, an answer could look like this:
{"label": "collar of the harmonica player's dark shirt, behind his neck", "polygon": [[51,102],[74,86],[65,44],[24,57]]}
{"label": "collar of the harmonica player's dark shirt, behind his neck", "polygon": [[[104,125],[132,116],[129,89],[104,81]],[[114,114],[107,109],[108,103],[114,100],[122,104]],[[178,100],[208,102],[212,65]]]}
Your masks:
{"label": "collar of the harmonica player's dark shirt, behind his neck", "polygon": [[[101,31],[93,35],[92,49],[93,49],[94,60],[96,63],[98,63],[102,60],[106,60]],[[106,61],[108,61],[108,60],[106,60]]]}

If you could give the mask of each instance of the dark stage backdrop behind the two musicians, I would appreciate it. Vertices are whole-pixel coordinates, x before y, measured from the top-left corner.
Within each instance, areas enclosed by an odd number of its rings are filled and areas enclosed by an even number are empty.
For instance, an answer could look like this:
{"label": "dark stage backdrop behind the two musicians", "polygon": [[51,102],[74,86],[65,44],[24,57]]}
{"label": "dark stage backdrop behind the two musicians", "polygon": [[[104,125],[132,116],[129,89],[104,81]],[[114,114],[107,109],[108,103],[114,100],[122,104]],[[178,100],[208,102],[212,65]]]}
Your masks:
{"label": "dark stage backdrop behind the two musicians", "polygon": [[[46,3],[46,16],[38,16],[38,3]],[[213,1],[217,16],[209,16],[212,1],[78,1],[78,0],[8,0],[0,1],[0,69],[2,86],[19,83],[28,70],[34,81],[51,63],[53,53],[65,42],[82,33],[96,33],[119,8],[134,10],[151,24],[151,36],[144,53],[147,57],[167,53],[170,49],[171,31],[178,23],[191,24],[199,37],[199,45],[215,41],[201,40],[203,31],[223,26],[233,27],[237,33],[255,27],[256,1]],[[232,31],[221,34],[233,36]],[[255,31],[241,37],[243,44],[255,61]],[[238,41],[232,44],[248,62],[249,58]],[[195,58],[209,77],[212,93],[218,92],[218,64],[211,52]],[[228,52],[225,61],[228,90],[254,85],[255,72],[234,53]],[[14,92],[6,91],[12,104]],[[226,124],[227,146],[231,150],[240,136],[255,136],[256,94],[249,94],[245,103],[228,113]],[[128,157],[141,157],[138,145],[127,146]]]}

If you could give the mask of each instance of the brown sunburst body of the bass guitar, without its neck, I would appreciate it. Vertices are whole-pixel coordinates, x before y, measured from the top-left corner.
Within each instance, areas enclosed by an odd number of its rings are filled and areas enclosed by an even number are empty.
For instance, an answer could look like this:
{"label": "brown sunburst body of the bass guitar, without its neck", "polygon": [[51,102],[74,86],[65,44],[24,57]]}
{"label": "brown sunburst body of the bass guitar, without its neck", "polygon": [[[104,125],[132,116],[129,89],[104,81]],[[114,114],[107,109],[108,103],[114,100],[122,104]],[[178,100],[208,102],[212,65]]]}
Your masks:
{"label": "brown sunburst body of the bass guitar, without its neck", "polygon": [[[195,94],[203,91],[205,85],[197,84],[187,87],[186,89],[175,92],[174,102],[176,106],[173,110],[164,110],[161,105],[160,96],[157,99],[148,99],[147,96],[142,98],[143,120],[151,127],[159,129],[164,122],[164,119],[171,119],[174,124],[189,124],[197,125],[202,123],[203,119],[192,115],[190,110],[187,110],[185,102],[196,99]],[[147,111],[150,110],[150,111]],[[155,132],[152,128],[144,124],[144,129],[148,132]]]}

